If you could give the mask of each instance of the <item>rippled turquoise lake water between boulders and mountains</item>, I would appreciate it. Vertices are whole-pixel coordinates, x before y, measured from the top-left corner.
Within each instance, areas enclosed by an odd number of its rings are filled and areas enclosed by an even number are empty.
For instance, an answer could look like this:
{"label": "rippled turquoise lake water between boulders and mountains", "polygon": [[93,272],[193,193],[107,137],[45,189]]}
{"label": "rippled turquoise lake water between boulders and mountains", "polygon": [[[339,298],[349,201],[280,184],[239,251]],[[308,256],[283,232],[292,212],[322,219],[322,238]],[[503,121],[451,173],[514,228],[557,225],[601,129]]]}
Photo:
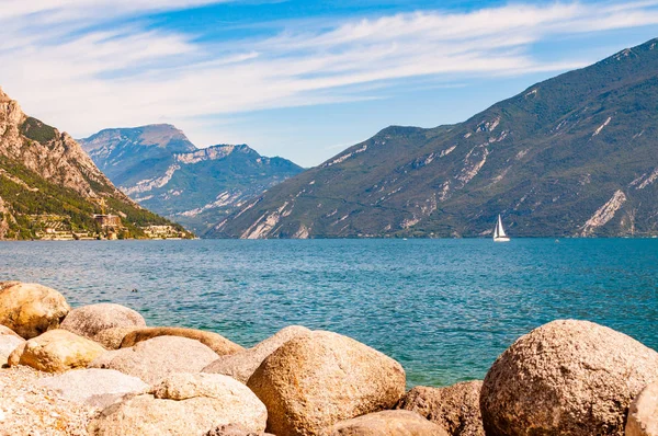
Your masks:
{"label": "rippled turquoise lake water between boulders and mountains", "polygon": [[396,358],[411,386],[481,379],[554,319],[658,349],[656,239],[2,242],[0,279],[246,346],[290,324],[331,330]]}

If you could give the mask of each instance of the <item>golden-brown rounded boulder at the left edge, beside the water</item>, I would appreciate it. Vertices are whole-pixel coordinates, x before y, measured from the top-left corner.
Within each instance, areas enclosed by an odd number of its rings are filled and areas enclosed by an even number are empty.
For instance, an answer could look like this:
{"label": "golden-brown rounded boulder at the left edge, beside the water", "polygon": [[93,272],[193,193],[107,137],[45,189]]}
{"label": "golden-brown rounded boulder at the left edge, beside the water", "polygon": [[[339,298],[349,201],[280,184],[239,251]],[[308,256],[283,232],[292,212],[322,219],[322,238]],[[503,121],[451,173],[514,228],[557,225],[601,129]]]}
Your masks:
{"label": "golden-brown rounded boulder at the left edge, beside the water", "polygon": [[0,282],[0,324],[23,339],[57,329],[69,310],[55,289],[34,283]]}

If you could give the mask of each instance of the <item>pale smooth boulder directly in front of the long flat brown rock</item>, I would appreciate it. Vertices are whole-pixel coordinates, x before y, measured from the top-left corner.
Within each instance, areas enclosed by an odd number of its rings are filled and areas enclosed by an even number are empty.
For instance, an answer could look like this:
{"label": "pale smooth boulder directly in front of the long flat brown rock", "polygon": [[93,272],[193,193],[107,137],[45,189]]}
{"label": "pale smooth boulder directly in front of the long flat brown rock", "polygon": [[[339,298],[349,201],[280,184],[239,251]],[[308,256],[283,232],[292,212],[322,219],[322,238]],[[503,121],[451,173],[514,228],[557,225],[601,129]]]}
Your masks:
{"label": "pale smooth boulder directly in front of the long flat brown rock", "polygon": [[158,336],[129,348],[105,352],[90,368],[116,369],[148,383],[172,372],[201,372],[217,354],[198,341],[178,336]]}

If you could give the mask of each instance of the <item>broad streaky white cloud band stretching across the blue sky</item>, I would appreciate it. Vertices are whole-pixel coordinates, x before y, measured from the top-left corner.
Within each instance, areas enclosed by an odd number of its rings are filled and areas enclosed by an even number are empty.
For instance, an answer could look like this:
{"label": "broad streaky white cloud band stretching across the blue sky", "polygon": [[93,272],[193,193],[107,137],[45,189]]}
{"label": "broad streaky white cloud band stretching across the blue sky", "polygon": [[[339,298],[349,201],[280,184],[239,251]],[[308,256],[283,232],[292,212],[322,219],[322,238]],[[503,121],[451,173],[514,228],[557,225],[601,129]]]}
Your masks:
{"label": "broad streaky white cloud band stretching across the blue sky", "polygon": [[208,115],[372,99],[420,77],[461,81],[564,70],[583,60],[542,62],[532,45],[555,35],[658,24],[658,1],[511,4],[316,28],[288,23],[275,36],[202,43],[200,35],[154,30],[139,20],[101,24],[217,1],[1,2],[0,85],[29,112],[76,135],[156,122],[201,129]]}

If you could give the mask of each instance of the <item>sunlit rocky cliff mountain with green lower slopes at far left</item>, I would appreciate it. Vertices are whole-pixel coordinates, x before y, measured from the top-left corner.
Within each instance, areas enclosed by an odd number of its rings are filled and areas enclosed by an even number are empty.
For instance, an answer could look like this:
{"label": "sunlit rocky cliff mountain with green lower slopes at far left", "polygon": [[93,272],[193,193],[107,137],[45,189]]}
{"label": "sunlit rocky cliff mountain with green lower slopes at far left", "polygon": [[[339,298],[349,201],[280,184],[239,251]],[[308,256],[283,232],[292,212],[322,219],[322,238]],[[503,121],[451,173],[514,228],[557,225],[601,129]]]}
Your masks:
{"label": "sunlit rocky cliff mountain with green lower slopes at far left", "polygon": [[69,135],[25,115],[0,89],[0,239],[156,233],[191,236],[126,197]]}

